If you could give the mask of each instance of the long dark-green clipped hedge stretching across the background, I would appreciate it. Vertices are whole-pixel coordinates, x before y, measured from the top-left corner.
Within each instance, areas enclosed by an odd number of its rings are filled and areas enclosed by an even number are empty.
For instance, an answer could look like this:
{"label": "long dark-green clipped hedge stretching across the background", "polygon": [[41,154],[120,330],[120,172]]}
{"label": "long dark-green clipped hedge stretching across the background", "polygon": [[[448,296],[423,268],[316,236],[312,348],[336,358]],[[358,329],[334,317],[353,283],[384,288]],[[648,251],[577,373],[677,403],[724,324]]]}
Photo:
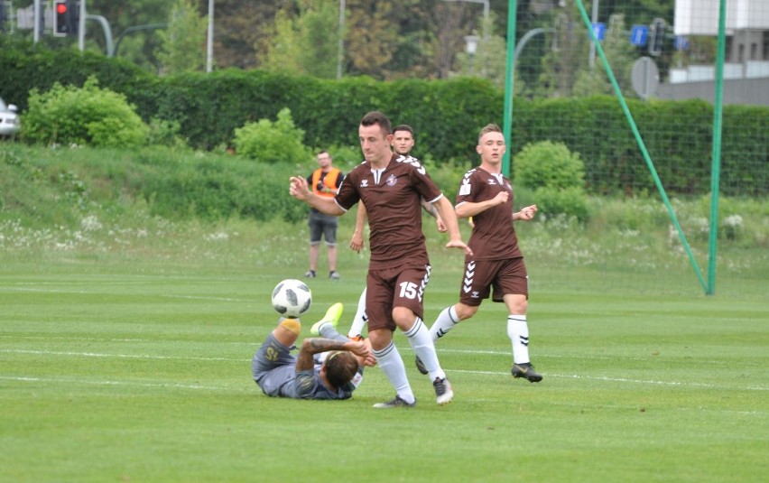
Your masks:
{"label": "long dark-green clipped hedge stretching across the background", "polygon": [[[0,96],[24,111],[30,88],[59,81],[125,94],[145,122],[178,121],[193,147],[232,146],[235,129],[274,120],[289,107],[312,148],[357,145],[357,122],[372,109],[415,129],[414,153],[436,165],[477,163],[477,132],[503,125],[504,93],[483,79],[377,82],[289,77],[259,70],[220,70],[157,78],[133,65],[79,51],[45,51],[0,37]],[[670,194],[709,191],[713,108],[701,100],[628,100],[655,169]],[[510,154],[525,144],[566,144],[585,163],[588,192],[655,191],[652,176],[616,98],[514,99]],[[723,111],[721,189],[733,196],[769,194],[769,108]],[[514,172],[513,172],[514,174]]]}

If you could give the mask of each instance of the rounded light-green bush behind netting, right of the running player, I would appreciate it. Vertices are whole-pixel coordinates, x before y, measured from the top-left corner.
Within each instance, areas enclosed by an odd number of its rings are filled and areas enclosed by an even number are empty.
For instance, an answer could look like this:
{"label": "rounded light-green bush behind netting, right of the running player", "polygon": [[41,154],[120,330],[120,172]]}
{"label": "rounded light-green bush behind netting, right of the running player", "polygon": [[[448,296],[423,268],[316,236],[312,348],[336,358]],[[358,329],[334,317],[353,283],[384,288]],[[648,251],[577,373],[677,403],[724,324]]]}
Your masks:
{"label": "rounded light-green bush behind netting, right of the running player", "polygon": [[588,220],[585,165],[565,144],[526,144],[514,159],[514,179],[533,198],[545,217],[567,215]]}

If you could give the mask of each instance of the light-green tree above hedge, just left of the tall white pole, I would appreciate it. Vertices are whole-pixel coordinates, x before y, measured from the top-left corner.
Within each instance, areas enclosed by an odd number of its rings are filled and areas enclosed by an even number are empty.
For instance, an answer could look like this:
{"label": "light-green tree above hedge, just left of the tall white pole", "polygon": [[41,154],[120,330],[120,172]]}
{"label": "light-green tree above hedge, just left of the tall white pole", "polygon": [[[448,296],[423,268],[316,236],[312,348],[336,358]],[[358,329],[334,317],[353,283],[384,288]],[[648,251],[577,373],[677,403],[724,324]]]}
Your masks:
{"label": "light-green tree above hedge, just left of the tall white pole", "polygon": [[208,20],[201,17],[191,0],[176,0],[167,30],[159,33],[162,44],[157,52],[161,72],[173,74],[203,70],[206,65]]}

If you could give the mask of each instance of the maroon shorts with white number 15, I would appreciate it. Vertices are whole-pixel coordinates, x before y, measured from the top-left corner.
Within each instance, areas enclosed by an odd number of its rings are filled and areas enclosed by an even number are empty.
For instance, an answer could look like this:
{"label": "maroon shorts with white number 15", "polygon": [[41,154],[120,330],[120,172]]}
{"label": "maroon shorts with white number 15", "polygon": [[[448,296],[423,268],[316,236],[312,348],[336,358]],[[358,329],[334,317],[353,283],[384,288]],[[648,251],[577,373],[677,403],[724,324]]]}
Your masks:
{"label": "maroon shorts with white number 15", "polygon": [[405,307],[424,316],[424,288],[430,281],[430,265],[369,270],[366,277],[368,330],[395,330],[394,307]]}

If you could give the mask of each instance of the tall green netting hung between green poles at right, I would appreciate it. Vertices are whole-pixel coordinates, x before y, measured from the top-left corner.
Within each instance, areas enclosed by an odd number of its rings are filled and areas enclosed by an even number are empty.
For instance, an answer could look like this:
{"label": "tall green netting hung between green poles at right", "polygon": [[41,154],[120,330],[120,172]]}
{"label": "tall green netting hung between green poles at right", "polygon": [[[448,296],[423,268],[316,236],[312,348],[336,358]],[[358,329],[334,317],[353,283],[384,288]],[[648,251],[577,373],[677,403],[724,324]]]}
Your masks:
{"label": "tall green netting hung between green poles at right", "polygon": [[[588,222],[551,217],[560,236],[522,227],[535,263],[557,275],[548,279],[709,294],[718,280],[726,293],[760,292],[769,3],[509,5],[506,167],[515,179],[515,156],[543,141],[585,165]],[[521,203],[542,195],[518,191]]]}

